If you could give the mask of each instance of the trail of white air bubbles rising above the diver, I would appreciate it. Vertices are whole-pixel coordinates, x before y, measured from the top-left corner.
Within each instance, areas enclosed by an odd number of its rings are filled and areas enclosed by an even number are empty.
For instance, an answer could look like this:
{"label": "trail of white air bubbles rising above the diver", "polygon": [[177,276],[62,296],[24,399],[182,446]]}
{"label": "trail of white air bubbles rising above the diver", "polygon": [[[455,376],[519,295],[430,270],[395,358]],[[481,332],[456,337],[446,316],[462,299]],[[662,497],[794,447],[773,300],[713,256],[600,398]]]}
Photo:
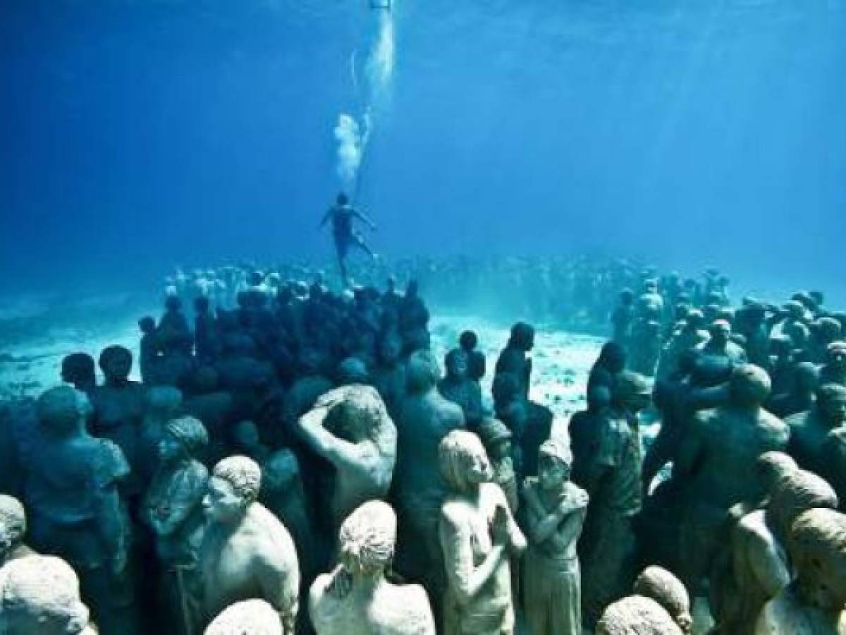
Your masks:
{"label": "trail of white air bubbles rising above the diver", "polygon": [[[384,112],[390,102],[396,58],[393,30],[396,0],[392,0],[387,6],[388,8],[374,8],[379,20],[378,32],[365,62],[366,85],[362,112],[358,117],[341,113],[338,115],[338,124],[335,125],[334,135],[338,142],[336,171],[341,189],[347,192],[355,193],[360,189],[360,168],[371,141],[376,116]],[[354,89],[359,91],[355,73],[355,53],[350,57],[350,70]]]}

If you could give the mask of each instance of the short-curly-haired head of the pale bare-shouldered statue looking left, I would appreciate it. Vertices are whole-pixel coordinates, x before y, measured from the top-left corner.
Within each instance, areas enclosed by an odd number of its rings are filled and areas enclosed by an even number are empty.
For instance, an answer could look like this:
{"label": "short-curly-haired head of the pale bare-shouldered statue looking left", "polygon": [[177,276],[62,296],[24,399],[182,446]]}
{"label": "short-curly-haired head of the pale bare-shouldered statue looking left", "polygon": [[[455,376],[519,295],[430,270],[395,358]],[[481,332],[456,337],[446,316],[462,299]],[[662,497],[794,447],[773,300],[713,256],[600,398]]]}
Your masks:
{"label": "short-curly-haired head of the pale bare-shouldered statue looking left", "polygon": [[214,467],[203,511],[212,522],[239,522],[261,489],[261,467],[246,456],[229,456]]}

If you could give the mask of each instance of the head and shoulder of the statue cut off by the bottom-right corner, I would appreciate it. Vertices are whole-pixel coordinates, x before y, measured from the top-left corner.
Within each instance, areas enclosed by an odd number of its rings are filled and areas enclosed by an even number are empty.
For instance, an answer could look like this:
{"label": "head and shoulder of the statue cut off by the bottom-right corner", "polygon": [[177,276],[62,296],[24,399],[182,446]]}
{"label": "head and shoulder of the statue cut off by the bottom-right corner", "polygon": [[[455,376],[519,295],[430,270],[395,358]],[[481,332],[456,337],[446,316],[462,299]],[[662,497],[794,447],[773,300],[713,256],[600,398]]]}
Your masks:
{"label": "head and shoulder of the statue cut off by the bottom-right corner", "polygon": [[799,516],[788,554],[797,576],[764,605],[755,635],[842,635],[846,628],[846,516],[825,508]]}

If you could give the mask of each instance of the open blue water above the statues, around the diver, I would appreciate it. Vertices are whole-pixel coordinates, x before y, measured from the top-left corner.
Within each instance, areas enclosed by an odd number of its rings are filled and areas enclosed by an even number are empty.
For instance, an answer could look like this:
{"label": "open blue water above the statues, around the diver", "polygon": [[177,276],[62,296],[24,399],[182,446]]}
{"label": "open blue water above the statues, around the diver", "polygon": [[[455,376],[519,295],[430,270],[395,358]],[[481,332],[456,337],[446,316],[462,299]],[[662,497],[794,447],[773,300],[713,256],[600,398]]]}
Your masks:
{"label": "open blue water above the statues, around the diver", "polygon": [[[842,0],[395,3],[377,251],[641,256],[846,301]],[[328,257],[366,5],[0,3],[0,287]]]}

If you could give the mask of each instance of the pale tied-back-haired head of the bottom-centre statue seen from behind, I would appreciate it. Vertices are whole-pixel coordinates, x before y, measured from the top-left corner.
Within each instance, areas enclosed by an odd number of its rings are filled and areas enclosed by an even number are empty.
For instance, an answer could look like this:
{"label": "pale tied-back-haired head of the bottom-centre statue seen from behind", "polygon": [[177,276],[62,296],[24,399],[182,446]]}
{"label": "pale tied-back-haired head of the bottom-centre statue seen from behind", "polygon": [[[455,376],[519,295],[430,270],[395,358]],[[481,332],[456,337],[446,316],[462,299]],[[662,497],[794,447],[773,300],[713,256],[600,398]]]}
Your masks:
{"label": "pale tied-back-haired head of the bottom-centre statue seen from behind", "polygon": [[393,560],[397,544],[397,515],[382,500],[361,505],[341,525],[340,561],[354,576],[383,572]]}

